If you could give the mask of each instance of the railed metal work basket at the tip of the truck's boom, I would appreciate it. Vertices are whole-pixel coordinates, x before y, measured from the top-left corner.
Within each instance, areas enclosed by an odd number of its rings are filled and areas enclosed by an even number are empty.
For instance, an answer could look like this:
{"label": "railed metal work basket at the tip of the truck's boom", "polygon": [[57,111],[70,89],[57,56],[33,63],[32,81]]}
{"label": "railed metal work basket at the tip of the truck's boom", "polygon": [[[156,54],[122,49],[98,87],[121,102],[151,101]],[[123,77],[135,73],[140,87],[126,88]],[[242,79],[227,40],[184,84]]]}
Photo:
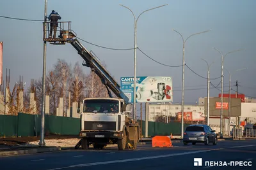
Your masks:
{"label": "railed metal work basket at the tip of the truck's boom", "polygon": [[[58,27],[56,27],[55,37],[54,37],[54,28],[52,28],[52,36],[51,34],[51,22],[43,23],[43,40],[50,42],[53,45],[65,45],[66,42],[69,41],[70,38],[76,37],[76,32],[71,30],[70,24],[71,22],[58,22]],[[46,29],[45,29],[46,25]]]}

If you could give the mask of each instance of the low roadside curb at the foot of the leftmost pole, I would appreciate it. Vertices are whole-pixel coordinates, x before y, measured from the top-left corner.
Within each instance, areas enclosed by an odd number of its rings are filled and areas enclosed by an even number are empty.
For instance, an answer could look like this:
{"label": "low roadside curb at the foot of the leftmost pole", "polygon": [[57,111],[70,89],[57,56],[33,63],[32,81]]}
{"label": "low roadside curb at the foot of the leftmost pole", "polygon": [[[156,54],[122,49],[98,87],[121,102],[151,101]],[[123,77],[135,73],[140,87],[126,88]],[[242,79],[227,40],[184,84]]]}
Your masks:
{"label": "low roadside curb at the foot of the leftmost pole", "polygon": [[11,156],[11,155],[24,155],[29,153],[43,153],[43,152],[54,152],[61,150],[60,147],[56,148],[35,148],[35,149],[26,149],[26,150],[10,150],[0,152],[0,157]]}

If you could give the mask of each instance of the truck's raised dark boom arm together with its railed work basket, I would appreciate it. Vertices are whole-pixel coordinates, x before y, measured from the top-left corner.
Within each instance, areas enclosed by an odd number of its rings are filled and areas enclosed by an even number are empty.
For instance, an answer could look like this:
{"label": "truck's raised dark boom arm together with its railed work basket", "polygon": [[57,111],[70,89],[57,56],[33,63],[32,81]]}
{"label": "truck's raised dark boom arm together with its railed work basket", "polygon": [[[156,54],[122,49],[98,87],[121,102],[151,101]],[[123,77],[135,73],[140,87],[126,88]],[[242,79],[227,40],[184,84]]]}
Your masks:
{"label": "truck's raised dark boom arm together with its railed work basket", "polygon": [[110,92],[111,90],[117,97],[124,99],[125,103],[128,104],[129,98],[125,96],[124,92],[122,92],[121,87],[115,78],[113,78],[107,69],[102,66],[100,61],[96,59],[97,56],[95,53],[86,50],[78,39],[76,39],[76,33],[70,29],[70,23],[71,22],[58,22],[55,37],[53,34],[53,28],[52,36],[49,37],[51,33],[51,22],[44,22],[44,41],[50,42],[52,45],[65,45],[65,43],[70,43],[77,50],[77,53],[83,58],[83,66],[90,67],[90,69],[99,76],[100,80],[108,90],[109,97],[112,97]]}

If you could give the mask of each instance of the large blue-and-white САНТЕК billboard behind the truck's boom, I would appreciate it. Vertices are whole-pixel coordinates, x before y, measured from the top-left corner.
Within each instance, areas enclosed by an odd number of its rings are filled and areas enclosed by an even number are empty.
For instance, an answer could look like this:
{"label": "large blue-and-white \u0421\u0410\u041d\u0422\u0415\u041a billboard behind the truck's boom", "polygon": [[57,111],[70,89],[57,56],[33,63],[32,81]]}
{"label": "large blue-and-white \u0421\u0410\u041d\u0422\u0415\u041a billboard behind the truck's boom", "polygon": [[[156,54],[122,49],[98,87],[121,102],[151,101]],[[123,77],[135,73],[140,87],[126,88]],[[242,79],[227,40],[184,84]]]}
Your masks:
{"label": "large blue-and-white \u0421\u0410\u041d\u0422\u0415\u041a billboard behind the truck's boom", "polygon": [[[134,99],[134,78],[121,77],[121,90],[129,98]],[[173,102],[172,77],[138,76],[136,77],[136,103]]]}

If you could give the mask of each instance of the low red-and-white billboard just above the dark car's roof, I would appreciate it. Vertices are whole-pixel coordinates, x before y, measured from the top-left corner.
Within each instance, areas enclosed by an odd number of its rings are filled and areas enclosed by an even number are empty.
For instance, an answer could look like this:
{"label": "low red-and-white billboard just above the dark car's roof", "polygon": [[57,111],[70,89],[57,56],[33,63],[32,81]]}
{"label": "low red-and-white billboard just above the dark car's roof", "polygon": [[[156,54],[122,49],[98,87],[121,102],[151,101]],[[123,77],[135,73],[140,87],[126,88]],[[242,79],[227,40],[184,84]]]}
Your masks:
{"label": "low red-and-white billboard just above the dark car's roof", "polygon": [[[181,112],[178,112],[178,120],[181,120]],[[204,121],[205,116],[202,111],[192,111],[192,112],[184,112],[183,114],[184,121]]]}

